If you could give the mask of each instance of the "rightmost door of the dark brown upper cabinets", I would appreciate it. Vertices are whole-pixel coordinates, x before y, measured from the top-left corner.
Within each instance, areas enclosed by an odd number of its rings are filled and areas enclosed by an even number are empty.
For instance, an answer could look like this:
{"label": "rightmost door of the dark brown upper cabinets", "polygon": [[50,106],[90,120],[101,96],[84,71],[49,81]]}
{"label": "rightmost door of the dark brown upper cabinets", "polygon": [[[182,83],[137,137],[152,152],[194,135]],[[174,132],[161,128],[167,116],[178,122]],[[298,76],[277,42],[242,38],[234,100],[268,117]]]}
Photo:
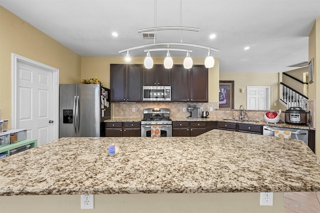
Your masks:
{"label": "rightmost door of the dark brown upper cabinets", "polygon": [[193,65],[190,70],[190,101],[208,101],[208,69],[203,65]]}

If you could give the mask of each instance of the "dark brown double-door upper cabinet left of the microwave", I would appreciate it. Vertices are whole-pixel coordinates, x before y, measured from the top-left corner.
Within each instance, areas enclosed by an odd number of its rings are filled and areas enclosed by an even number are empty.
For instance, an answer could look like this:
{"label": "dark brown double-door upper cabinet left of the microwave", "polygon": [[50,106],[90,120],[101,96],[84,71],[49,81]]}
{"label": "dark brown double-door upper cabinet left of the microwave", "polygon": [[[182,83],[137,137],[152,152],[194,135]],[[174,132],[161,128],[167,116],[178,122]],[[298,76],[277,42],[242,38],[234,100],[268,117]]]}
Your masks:
{"label": "dark brown double-door upper cabinet left of the microwave", "polygon": [[110,64],[111,101],[142,101],[142,65]]}

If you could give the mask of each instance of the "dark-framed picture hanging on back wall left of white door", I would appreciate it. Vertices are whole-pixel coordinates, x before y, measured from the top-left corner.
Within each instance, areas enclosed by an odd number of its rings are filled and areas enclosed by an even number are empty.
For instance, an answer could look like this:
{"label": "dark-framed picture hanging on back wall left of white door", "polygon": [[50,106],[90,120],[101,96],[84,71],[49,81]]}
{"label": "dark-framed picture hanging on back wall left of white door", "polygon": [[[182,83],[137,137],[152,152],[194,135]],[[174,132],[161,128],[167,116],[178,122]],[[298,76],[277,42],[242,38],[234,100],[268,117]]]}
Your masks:
{"label": "dark-framed picture hanging on back wall left of white door", "polygon": [[234,80],[219,81],[219,108],[234,108]]}

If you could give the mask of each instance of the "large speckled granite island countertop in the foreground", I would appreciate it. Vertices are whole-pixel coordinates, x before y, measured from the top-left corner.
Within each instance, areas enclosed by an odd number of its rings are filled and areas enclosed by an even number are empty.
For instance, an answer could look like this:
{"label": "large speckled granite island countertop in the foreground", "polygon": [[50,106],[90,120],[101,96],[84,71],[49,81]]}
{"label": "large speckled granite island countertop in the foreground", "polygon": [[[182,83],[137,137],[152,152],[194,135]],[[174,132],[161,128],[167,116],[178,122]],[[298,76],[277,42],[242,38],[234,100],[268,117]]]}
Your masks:
{"label": "large speckled granite island countertop in the foreground", "polygon": [[[119,153],[108,155],[108,143]],[[301,140],[213,129],[197,137],[68,137],[0,159],[0,195],[319,191]]]}

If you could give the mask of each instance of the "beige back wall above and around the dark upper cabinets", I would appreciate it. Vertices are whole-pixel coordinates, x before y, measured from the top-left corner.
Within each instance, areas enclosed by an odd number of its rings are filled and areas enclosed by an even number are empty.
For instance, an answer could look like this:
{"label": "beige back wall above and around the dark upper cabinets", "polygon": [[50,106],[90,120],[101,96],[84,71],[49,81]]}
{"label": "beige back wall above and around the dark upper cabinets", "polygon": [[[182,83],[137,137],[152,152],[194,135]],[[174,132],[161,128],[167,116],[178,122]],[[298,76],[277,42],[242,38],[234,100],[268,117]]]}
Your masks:
{"label": "beige back wall above and around the dark upper cabinets", "polygon": [[[154,64],[162,64],[163,57],[152,57]],[[183,64],[182,57],[173,57],[174,64]],[[193,64],[204,64],[204,58],[193,58]],[[131,64],[142,64],[144,57],[132,57]],[[219,89],[219,58],[214,58],[214,66],[209,68],[208,73],[208,100],[209,102],[218,101]],[[81,76],[82,78],[98,77],[105,87],[110,87],[110,64],[127,63],[123,56],[118,57],[81,57]],[[216,91],[216,92],[214,92]]]}

